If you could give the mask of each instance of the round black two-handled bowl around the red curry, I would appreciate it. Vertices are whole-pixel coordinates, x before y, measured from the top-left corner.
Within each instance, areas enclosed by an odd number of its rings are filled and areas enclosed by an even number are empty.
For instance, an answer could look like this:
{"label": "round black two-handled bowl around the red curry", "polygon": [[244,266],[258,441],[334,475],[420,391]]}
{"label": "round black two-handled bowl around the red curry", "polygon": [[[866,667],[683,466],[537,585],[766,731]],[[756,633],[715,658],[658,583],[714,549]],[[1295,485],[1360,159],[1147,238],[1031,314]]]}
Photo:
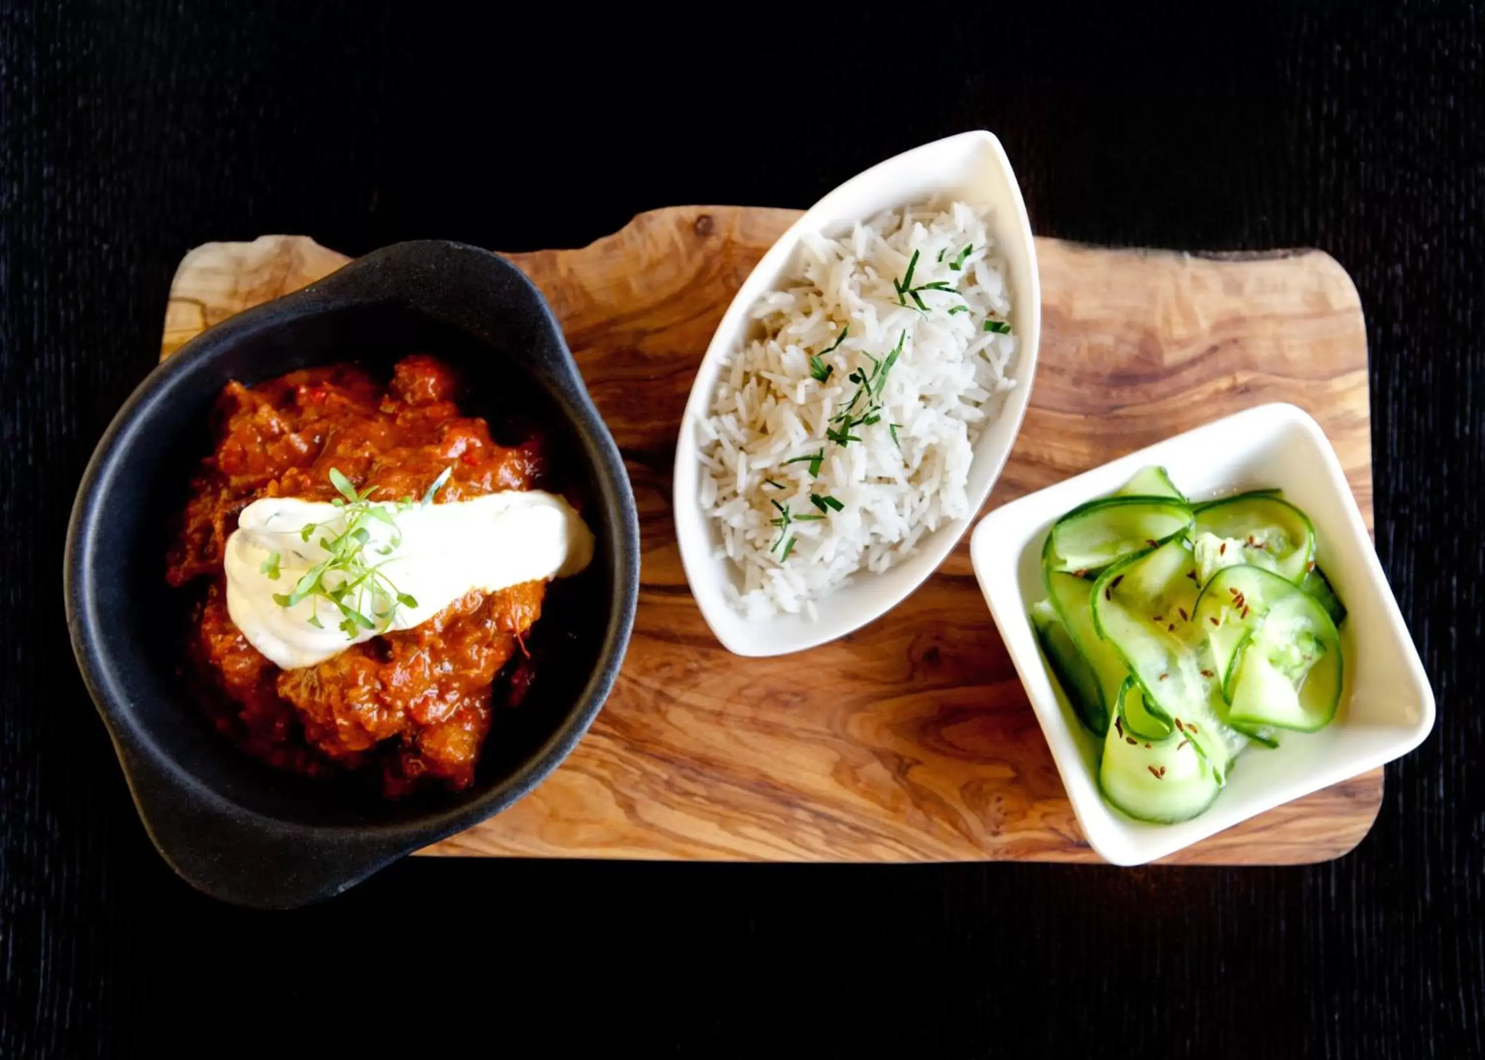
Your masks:
{"label": "round black two-handled bowl around the red curry", "polygon": [[[552,585],[533,628],[548,665],[518,708],[496,711],[475,784],[386,802],[359,784],[273,771],[212,729],[186,675],[186,604],[165,583],[165,552],[229,380],[334,361],[389,370],[414,352],[462,370],[462,410],[497,436],[512,417],[541,426],[597,549],[587,572]],[[184,346],[98,442],[67,536],[73,649],[150,839],[196,888],[261,907],[343,891],[539,784],[603,705],[637,588],[634,494],[557,321],[512,264],[447,242],[388,246]]]}

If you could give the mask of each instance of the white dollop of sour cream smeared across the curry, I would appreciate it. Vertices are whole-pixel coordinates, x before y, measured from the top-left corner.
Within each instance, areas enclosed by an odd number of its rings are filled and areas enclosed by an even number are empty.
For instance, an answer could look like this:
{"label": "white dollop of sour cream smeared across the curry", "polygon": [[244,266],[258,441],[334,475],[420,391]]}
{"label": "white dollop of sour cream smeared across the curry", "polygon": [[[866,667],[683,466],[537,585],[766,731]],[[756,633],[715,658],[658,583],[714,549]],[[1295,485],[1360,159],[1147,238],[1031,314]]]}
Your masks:
{"label": "white dollop of sour cream smeared across the curry", "polygon": [[[327,558],[319,546],[327,536],[316,529],[303,540],[301,529],[322,524],[334,537],[343,520],[334,505],[294,497],[254,500],[238,517],[227,539],[227,613],[242,635],[282,670],[313,667],[352,644],[382,632],[422,625],[466,592],[496,592],[523,582],[576,575],[593,560],[593,531],[558,496],[541,490],[490,493],[443,505],[399,511],[379,505],[392,523],[367,521],[364,545],[368,566],[398,592],[417,601],[398,604],[391,621],[347,637],[340,615],[327,600],[300,600],[284,607],[275,594],[288,594],[296,582]],[[343,529],[343,527],[342,527]],[[279,576],[264,570],[278,554]],[[316,616],[321,626],[310,619]]]}

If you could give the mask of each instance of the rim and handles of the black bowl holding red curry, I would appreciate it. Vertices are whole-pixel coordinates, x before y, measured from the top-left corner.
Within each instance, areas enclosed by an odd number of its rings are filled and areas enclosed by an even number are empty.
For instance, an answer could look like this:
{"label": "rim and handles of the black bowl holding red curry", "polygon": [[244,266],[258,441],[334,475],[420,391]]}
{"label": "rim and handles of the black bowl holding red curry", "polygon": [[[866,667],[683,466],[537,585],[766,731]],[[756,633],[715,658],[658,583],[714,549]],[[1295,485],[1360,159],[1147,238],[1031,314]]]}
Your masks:
{"label": "rim and handles of the black bowl holding red curry", "polygon": [[[267,817],[239,806],[184,771],[180,763],[159,748],[147,729],[134,724],[129,714],[119,705],[123,693],[116,683],[117,664],[98,644],[97,626],[99,616],[95,612],[97,594],[95,572],[92,570],[92,546],[98,533],[101,499],[107,496],[108,482],[117,472],[119,463],[128,453],[137,432],[150,419],[154,408],[168,404],[172,387],[198,362],[220,356],[236,343],[251,338],[263,330],[272,330],[288,310],[293,310],[294,316],[304,316],[358,304],[371,304],[379,300],[385,301],[386,291],[382,288],[394,291],[396,288],[395,278],[391,282],[386,279],[385,270],[388,270],[388,266],[401,269],[407,264],[440,261],[451,257],[465,258],[468,263],[471,255],[478,264],[492,270],[492,278],[515,279],[517,287],[523,288],[524,295],[539,309],[542,325],[549,330],[554,347],[561,355],[558,370],[548,376],[548,382],[555,390],[554,396],[564,405],[564,411],[572,416],[575,429],[597,450],[598,466],[595,468],[595,474],[603,493],[601,502],[604,506],[616,509],[621,515],[627,515],[627,518],[618,520],[621,534],[616,542],[616,563],[612,583],[616,621],[610,619],[600,646],[598,665],[569,710],[566,722],[538,751],[502,782],[462,806],[447,811],[434,809],[407,821],[368,825],[304,824]],[[364,295],[361,289],[364,282],[371,284],[371,295]],[[405,304],[414,312],[420,309],[416,300]],[[83,683],[108,730],[135,808],[140,812],[140,819],[156,849],[189,883],[208,894],[241,904],[278,907],[301,904],[303,901],[340,892],[420,846],[435,843],[440,839],[446,839],[480,821],[489,819],[541,784],[567,757],[578,741],[582,739],[613,687],[634,626],[634,615],[639,603],[639,517],[624,460],[587,392],[572,350],[567,347],[561,325],[545,297],[542,297],[536,285],[520,269],[497,254],[451,241],[413,241],[373,251],[298,291],[236,313],[196,336],[172,356],[156,365],[114,414],[83,472],[67,529],[62,591],[73,653],[77,658]],[[144,766],[148,766],[148,771],[143,769]],[[153,776],[143,775],[146,772],[151,772]],[[199,866],[192,866],[189,858],[177,857],[180,854],[177,843],[183,842],[181,837],[163,834],[157,827],[151,805],[147,805],[153,803],[153,791],[148,788],[162,784],[174,787],[177,799],[187,797],[198,800],[206,818],[220,817],[235,828],[258,833],[258,839],[272,839],[275,842],[288,839],[294,842],[331,843],[339,848],[362,848],[362,857],[347,858],[358,864],[340,873],[330,873],[334,879],[319,880],[318,885],[309,888],[309,894],[304,892],[306,888],[300,882],[298,886],[290,888],[293,894],[284,895],[285,900],[278,900],[275,894],[264,894],[264,891],[272,892],[273,888],[263,888],[257,880],[248,888],[235,886],[230,880],[215,879],[212,873],[203,873]],[[355,851],[340,849],[336,854],[342,857],[347,854],[353,855]]]}

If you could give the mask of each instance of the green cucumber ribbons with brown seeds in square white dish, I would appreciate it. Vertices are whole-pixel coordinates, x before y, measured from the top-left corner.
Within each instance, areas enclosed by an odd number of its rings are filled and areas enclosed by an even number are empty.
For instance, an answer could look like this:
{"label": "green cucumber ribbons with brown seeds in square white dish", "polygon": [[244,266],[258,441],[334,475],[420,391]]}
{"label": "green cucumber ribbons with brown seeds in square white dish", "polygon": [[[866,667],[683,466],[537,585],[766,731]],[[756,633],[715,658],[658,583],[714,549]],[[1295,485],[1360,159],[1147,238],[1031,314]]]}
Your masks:
{"label": "green cucumber ribbons with brown seeds in square white dish", "polygon": [[1164,468],[1057,520],[1031,621],[1103,741],[1105,800],[1140,821],[1187,821],[1250,744],[1331,723],[1345,607],[1314,552],[1314,527],[1279,490],[1192,502]]}

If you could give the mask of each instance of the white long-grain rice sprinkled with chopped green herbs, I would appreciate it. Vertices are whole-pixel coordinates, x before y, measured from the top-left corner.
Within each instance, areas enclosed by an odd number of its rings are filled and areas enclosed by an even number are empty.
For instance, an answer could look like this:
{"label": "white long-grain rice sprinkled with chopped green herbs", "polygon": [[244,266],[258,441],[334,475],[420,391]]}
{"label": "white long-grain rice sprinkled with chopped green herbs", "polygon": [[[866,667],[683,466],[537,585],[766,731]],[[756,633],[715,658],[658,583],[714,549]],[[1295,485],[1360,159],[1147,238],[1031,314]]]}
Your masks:
{"label": "white long-grain rice sprinkled with chopped green herbs", "polygon": [[[857,224],[842,239],[805,236],[783,288],[753,307],[754,337],[729,353],[701,425],[701,505],[737,564],[729,594],[750,619],[814,616],[814,601],[855,572],[881,573],[940,523],[971,514],[971,447],[998,411],[992,398],[1014,386],[1005,365],[1016,337],[985,330],[1011,309],[988,215],[961,202],[927,203]],[[927,312],[895,287],[913,251],[912,287]],[[958,306],[965,309],[949,312]],[[845,340],[826,353],[842,331]],[[882,379],[875,364],[898,340],[901,353]],[[832,368],[824,383],[811,376],[812,355]],[[845,426],[832,417],[861,389],[849,379],[857,370],[876,383],[851,419],[878,404],[879,419],[849,428],[852,441],[842,444],[827,431]],[[817,453],[812,477],[799,457]],[[811,494],[841,509],[821,511]],[[780,508],[787,526],[777,524]]]}

